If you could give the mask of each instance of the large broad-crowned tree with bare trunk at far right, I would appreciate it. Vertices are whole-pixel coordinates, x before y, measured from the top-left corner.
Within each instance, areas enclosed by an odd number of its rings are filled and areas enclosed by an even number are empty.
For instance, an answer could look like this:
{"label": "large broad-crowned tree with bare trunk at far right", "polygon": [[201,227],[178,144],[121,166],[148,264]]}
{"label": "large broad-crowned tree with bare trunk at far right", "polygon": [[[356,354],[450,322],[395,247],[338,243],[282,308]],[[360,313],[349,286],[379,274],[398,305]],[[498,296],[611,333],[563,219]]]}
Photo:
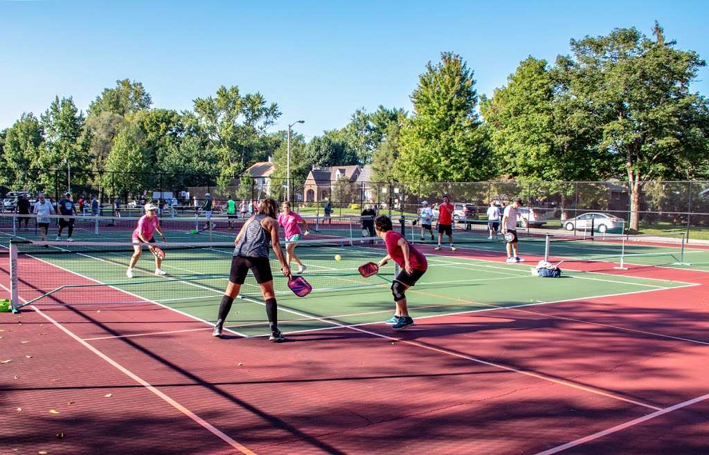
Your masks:
{"label": "large broad-crowned tree with bare trunk at far right", "polygon": [[573,56],[557,59],[578,101],[569,123],[595,122],[599,149],[627,175],[635,231],[642,183],[686,175],[683,165],[705,150],[709,124],[707,100],[689,90],[705,62],[666,41],[657,23],[654,35],[625,28],[571,40]]}

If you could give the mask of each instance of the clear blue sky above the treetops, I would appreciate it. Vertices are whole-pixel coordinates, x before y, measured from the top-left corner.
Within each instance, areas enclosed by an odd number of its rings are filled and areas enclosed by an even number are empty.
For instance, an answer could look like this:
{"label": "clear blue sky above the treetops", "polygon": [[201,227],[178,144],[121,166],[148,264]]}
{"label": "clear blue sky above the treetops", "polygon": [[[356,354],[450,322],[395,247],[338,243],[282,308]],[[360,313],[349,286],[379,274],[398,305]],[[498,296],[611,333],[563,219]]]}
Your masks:
{"label": "clear blue sky above the treetops", "polygon": [[[498,4],[496,4],[498,3]],[[678,47],[709,59],[704,1],[4,1],[0,129],[54,96],[80,109],[116,79],[141,81],[155,107],[189,109],[220,85],[279,104],[311,138],[357,108],[411,110],[418,74],[453,51],[491,94],[528,55],[657,19]],[[709,95],[709,70],[693,88]]]}

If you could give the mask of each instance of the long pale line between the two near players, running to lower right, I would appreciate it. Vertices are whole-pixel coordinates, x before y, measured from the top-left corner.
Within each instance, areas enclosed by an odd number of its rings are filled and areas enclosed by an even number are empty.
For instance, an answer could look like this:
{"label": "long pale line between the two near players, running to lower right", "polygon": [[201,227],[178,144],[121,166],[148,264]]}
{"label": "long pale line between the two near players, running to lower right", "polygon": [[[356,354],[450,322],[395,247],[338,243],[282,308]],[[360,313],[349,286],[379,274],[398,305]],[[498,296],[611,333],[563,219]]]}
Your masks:
{"label": "long pale line between the two near players, running to lower right", "polygon": [[[252,300],[252,301],[254,301],[255,303],[257,303],[257,304],[259,304],[259,305],[265,305],[265,304],[262,304],[262,303],[259,302],[259,301],[253,300],[253,299],[249,299],[249,300]],[[420,342],[415,342],[415,341],[411,341],[411,340],[403,340],[403,339],[401,339],[401,338],[395,338],[395,337],[392,337],[392,336],[389,336],[389,335],[384,335],[384,334],[382,334],[382,333],[376,333],[376,332],[372,332],[372,331],[369,331],[369,330],[364,330],[364,329],[359,328],[359,327],[345,326],[344,324],[341,324],[341,323],[338,323],[338,322],[335,322],[335,321],[328,321],[328,320],[326,320],[326,319],[324,319],[324,318],[319,318],[319,317],[312,316],[312,315],[309,315],[309,314],[306,314],[306,313],[301,313],[300,311],[291,310],[291,309],[289,309],[289,308],[284,308],[284,307],[282,307],[282,306],[281,306],[281,310],[286,311],[286,312],[289,312],[289,313],[297,314],[298,316],[303,316],[303,317],[306,317],[306,318],[313,318],[313,319],[316,319],[316,320],[318,320],[318,321],[321,321],[321,322],[328,323],[328,324],[331,324],[331,325],[333,325],[333,326],[336,326],[337,328],[348,328],[348,329],[350,329],[350,330],[354,330],[354,331],[361,332],[361,333],[367,333],[367,335],[372,335],[372,336],[375,336],[375,337],[384,338],[384,339],[386,339],[386,340],[392,340],[392,341],[396,341],[396,342],[402,342],[402,343],[406,343],[406,344],[408,344],[408,345],[413,345],[413,346],[416,346],[416,347],[423,347],[423,349],[426,349],[426,350],[430,350],[430,351],[434,351],[434,352],[439,352],[439,353],[445,354],[445,355],[451,355],[451,356],[453,356],[453,357],[458,357],[458,358],[460,358],[460,359],[470,360],[471,362],[475,362],[475,363],[487,365],[488,367],[494,367],[494,368],[497,368],[497,369],[504,369],[504,370],[506,370],[506,371],[508,371],[508,372],[514,372],[514,373],[524,374],[525,376],[530,376],[530,377],[533,377],[533,378],[536,378],[536,379],[542,379],[543,381],[553,382],[554,384],[559,384],[559,385],[562,385],[562,386],[567,386],[567,387],[571,387],[571,388],[576,388],[576,389],[578,389],[578,390],[582,390],[582,391],[594,393],[594,394],[596,394],[596,395],[605,396],[606,398],[613,398],[613,399],[618,400],[618,401],[625,401],[626,403],[632,403],[632,404],[634,404],[634,405],[639,405],[639,406],[642,406],[642,407],[644,407],[644,408],[650,408],[650,409],[654,409],[654,410],[659,410],[659,409],[660,409],[660,408],[658,408],[657,406],[654,406],[654,405],[651,405],[651,404],[648,404],[648,403],[642,403],[642,402],[640,402],[640,401],[631,400],[630,398],[624,398],[624,397],[622,397],[622,396],[615,395],[614,393],[610,393],[610,392],[607,392],[607,391],[603,391],[603,390],[601,390],[601,389],[599,389],[599,388],[594,388],[594,387],[591,387],[591,386],[581,386],[581,385],[579,385],[579,384],[574,384],[573,382],[571,382],[571,381],[566,381],[565,379],[556,379],[556,378],[553,378],[552,376],[547,376],[547,375],[545,375],[545,374],[530,372],[530,371],[527,371],[527,370],[517,369],[517,368],[514,368],[514,367],[508,367],[507,365],[498,364],[498,363],[495,363],[495,362],[488,362],[487,360],[479,359],[479,358],[477,358],[477,357],[471,357],[471,356],[469,356],[469,355],[462,355],[462,354],[459,354],[459,353],[457,353],[457,352],[452,352],[452,351],[445,350],[445,349],[442,349],[442,348],[439,348],[439,347],[432,347],[432,346],[423,345],[423,344],[420,343]]]}

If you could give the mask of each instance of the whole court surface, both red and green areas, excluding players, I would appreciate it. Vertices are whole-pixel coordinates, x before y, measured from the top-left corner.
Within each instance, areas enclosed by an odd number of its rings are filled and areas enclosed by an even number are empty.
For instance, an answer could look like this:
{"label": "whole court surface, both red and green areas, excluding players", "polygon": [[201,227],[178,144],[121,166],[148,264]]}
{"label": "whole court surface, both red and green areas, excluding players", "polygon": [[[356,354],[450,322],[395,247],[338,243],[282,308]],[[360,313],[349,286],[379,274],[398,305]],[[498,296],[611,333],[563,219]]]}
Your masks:
{"label": "whole court surface, both red and green areas, excluding players", "polygon": [[[225,238],[230,240],[230,238]],[[34,239],[33,239],[34,240]],[[83,240],[79,238],[79,240]],[[213,241],[214,238],[211,238]],[[450,251],[407,292],[393,332],[370,239],[305,243],[315,288],[276,278],[267,341],[252,277],[228,336],[211,324],[228,243],[165,248],[166,277],[130,246],[27,243],[20,313],[0,313],[7,453],[568,454],[709,452],[709,248],[661,241],[523,241]],[[544,255],[564,277],[530,266]],[[335,255],[341,260],[335,260]],[[620,258],[623,258],[623,269]],[[1,298],[11,255],[0,254]]]}

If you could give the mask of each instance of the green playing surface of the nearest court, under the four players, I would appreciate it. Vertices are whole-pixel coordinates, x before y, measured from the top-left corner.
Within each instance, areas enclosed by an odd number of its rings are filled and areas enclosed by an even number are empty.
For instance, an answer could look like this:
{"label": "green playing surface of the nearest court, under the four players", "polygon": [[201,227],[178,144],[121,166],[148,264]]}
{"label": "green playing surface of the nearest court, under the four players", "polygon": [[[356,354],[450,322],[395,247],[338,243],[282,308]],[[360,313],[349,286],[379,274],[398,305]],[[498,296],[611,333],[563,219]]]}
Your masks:
{"label": "green playing surface of the nearest court, under the four players", "polygon": [[[387,281],[393,278],[393,266],[384,267],[382,277],[364,279],[357,272],[358,265],[384,256],[381,246],[320,246],[302,248],[299,253],[308,265],[303,276],[314,288],[313,293],[304,298],[294,296],[286,288],[286,279],[279,274],[277,262],[272,260],[280,309],[279,326],[285,333],[376,323],[393,313]],[[335,255],[341,255],[342,260],[336,261]],[[146,253],[133,280],[125,277],[128,251],[82,249],[82,253],[50,251],[33,256],[45,261],[38,273],[45,282],[39,286],[35,283],[35,287],[45,292],[57,287],[57,283],[81,281],[67,271],[113,284],[113,290],[107,287],[63,289],[55,294],[62,301],[101,304],[116,299],[121,302],[147,299],[213,322],[228,282],[231,251],[226,248],[170,251],[163,263],[163,269],[169,274],[167,278],[150,273],[154,265],[152,255]],[[414,318],[692,285],[672,280],[566,270],[565,277],[545,280],[530,273],[530,263],[506,264],[445,254],[427,255],[427,258],[428,272],[407,292]],[[23,257],[22,260],[35,259]],[[226,326],[242,335],[264,335],[268,328],[265,310],[251,275],[247,277],[242,292],[246,297],[235,301]],[[41,306],[43,302],[40,300],[37,304]]]}

